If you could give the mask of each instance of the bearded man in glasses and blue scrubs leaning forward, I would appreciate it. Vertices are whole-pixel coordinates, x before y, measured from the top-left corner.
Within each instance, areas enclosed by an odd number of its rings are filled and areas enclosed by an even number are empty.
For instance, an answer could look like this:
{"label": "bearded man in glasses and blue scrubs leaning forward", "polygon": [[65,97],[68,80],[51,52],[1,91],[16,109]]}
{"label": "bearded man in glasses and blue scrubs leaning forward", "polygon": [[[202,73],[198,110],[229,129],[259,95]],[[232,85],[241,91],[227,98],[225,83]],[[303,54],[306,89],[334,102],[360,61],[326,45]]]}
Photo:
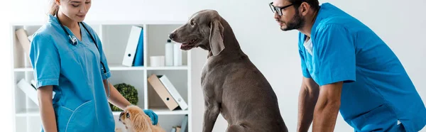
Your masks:
{"label": "bearded man in glasses and blue scrubs leaning forward", "polygon": [[426,108],[398,57],[332,4],[275,0],[281,30],[296,29],[302,60],[297,131],[334,131],[340,110],[355,131],[420,131]]}

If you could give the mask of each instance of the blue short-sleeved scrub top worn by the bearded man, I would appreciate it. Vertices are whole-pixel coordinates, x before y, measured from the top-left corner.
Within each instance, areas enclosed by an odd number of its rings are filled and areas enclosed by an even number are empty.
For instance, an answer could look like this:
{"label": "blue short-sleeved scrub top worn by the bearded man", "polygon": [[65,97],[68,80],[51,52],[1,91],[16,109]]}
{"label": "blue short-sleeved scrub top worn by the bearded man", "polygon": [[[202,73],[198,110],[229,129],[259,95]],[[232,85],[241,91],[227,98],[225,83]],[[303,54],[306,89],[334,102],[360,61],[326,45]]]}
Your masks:
{"label": "blue short-sleeved scrub top worn by the bearded man", "polygon": [[354,131],[392,131],[398,120],[406,131],[425,126],[425,104],[413,82],[370,28],[325,3],[312,26],[312,53],[305,38],[299,33],[303,76],[320,86],[345,82],[340,113]]}

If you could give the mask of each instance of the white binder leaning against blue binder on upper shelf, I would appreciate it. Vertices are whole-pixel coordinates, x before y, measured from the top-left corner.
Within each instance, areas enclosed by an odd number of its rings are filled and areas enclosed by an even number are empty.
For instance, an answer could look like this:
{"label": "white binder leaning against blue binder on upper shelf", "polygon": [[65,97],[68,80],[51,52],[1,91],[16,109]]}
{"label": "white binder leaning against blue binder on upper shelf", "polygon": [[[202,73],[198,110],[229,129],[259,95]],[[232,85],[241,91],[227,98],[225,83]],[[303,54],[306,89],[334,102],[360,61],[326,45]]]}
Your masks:
{"label": "white binder leaning against blue binder on upper shelf", "polygon": [[122,65],[131,67],[133,65],[133,60],[135,59],[136,48],[139,42],[139,36],[141,35],[142,27],[141,26],[132,26],[129,40],[127,41],[126,51],[124,52]]}

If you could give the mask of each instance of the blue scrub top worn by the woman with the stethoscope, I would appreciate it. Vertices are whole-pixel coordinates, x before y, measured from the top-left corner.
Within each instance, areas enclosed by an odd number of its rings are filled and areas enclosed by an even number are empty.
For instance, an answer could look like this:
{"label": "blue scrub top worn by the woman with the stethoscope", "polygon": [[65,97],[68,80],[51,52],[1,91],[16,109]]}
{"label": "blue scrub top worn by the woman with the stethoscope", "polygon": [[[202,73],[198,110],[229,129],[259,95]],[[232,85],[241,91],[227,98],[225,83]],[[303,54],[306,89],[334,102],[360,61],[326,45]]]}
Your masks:
{"label": "blue scrub top worn by the woman with the stethoscope", "polygon": [[[115,123],[104,89],[103,79],[111,76],[97,33],[80,24],[82,41],[70,43],[58,19],[49,15],[48,23],[33,35],[30,58],[37,88],[53,85],[53,107],[59,131],[114,131]],[[69,28],[65,29],[74,35]],[[101,70],[105,65],[107,73]],[[43,130],[42,130],[43,131]]]}

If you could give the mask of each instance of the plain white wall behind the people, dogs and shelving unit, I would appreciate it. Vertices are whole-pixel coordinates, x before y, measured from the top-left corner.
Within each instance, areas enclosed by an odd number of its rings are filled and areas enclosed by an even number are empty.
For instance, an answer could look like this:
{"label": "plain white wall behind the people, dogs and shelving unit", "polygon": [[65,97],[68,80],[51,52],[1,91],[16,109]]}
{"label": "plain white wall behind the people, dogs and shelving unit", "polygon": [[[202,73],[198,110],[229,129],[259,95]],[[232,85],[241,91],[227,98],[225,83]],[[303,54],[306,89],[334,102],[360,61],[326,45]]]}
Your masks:
{"label": "plain white wall behind the people, dogs and shelving unit", "polygon": [[[1,51],[0,61],[11,62],[9,21],[43,21],[46,0],[16,0],[2,5]],[[226,3],[228,2],[228,3]],[[242,3],[247,2],[247,3]],[[297,31],[280,31],[268,7],[271,1],[244,0],[166,0],[166,1],[93,1],[87,21],[136,21],[178,19],[186,20],[192,13],[201,9],[216,9],[231,24],[241,48],[249,55],[253,63],[263,72],[278,94],[280,109],[290,131],[295,131],[297,122],[297,94],[301,83],[300,59],[297,53]],[[326,1],[320,1],[323,3]],[[410,3],[388,0],[337,1],[330,0],[344,11],[359,18],[385,40],[403,62],[417,91],[426,102],[426,75],[424,67],[426,43],[426,17],[423,14],[424,0],[412,0]],[[4,13],[4,14],[3,14]],[[158,15],[159,13],[159,15]],[[260,24],[255,24],[260,23]],[[270,35],[266,35],[270,33]],[[5,47],[5,48],[3,48]],[[207,53],[197,49],[193,51],[193,109],[204,109],[200,88],[200,71]],[[4,63],[3,63],[4,64]],[[6,63],[8,64],[8,63]],[[0,83],[4,88],[0,92],[2,106],[11,106],[11,70],[10,65],[1,65]],[[5,106],[6,105],[6,106]],[[6,107],[7,108],[7,107]],[[4,111],[4,112],[3,112]],[[202,130],[203,111],[192,111],[193,131]],[[9,109],[1,109],[1,114],[12,114]],[[7,121],[7,120],[5,120]],[[11,122],[8,122],[11,123]],[[0,124],[1,128],[11,129],[10,124]],[[4,125],[4,126],[3,126]],[[219,116],[214,131],[224,131],[226,121]],[[425,130],[425,128],[424,128]],[[338,116],[335,131],[353,131]]]}

